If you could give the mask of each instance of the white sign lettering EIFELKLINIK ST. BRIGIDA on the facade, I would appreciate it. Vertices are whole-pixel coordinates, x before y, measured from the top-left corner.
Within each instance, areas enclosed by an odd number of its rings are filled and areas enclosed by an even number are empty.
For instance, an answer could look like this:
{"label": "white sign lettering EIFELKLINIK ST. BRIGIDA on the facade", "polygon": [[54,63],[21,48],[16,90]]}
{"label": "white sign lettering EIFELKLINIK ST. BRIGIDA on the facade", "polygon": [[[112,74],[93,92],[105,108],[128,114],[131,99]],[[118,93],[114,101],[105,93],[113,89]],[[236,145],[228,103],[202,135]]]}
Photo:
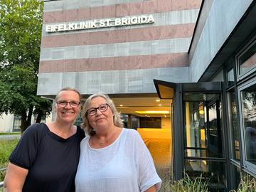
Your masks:
{"label": "white sign lettering EIFELKLINIK ST. BRIGIDA on the facade", "polygon": [[146,23],[154,23],[152,15],[142,16],[126,16],[122,18],[105,18],[89,21],[78,21],[73,23],[58,23],[54,25],[46,25],[46,32],[61,32],[61,31],[77,31],[92,28],[105,28],[114,26],[131,26]]}

